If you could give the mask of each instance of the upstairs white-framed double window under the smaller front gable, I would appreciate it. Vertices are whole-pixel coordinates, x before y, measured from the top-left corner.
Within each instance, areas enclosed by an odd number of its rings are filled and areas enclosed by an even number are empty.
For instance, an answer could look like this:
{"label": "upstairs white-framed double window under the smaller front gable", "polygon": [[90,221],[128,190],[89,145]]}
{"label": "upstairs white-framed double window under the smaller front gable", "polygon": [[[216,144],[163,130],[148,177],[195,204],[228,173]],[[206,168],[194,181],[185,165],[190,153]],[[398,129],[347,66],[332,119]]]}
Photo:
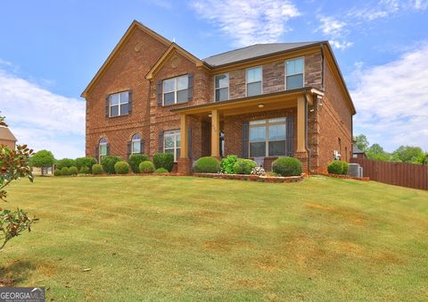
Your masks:
{"label": "upstairs white-framed double window under the smaller front gable", "polygon": [[163,80],[163,105],[185,103],[189,99],[189,76]]}

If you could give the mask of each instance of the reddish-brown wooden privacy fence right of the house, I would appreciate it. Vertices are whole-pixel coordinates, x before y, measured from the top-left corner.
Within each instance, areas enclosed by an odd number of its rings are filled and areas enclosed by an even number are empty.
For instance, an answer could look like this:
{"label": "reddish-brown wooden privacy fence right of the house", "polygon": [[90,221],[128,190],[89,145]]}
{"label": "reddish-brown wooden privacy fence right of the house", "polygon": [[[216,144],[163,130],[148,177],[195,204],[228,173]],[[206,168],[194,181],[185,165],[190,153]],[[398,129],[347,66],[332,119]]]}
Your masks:
{"label": "reddish-brown wooden privacy fence right of the house", "polygon": [[351,158],[350,163],[363,167],[364,176],[370,180],[391,185],[428,189],[428,165],[374,161],[366,158]]}

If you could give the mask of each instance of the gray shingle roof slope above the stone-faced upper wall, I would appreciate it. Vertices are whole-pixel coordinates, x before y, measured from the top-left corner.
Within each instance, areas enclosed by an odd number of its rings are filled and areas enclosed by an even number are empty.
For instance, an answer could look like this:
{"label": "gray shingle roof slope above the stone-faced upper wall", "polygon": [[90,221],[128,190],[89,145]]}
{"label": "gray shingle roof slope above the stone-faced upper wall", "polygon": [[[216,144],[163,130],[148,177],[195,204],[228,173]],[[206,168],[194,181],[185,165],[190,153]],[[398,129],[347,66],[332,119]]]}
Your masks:
{"label": "gray shingle roof slope above the stone-faced upper wall", "polygon": [[296,48],[310,46],[324,41],[312,41],[312,42],[300,42],[300,43],[268,43],[268,44],[255,44],[253,46],[247,46],[235,50],[228,51],[219,55],[211,55],[208,58],[203,59],[205,63],[211,66],[225,65],[228,63],[235,63],[254,59],[264,55],[274,55],[276,53],[282,53],[290,51]]}

